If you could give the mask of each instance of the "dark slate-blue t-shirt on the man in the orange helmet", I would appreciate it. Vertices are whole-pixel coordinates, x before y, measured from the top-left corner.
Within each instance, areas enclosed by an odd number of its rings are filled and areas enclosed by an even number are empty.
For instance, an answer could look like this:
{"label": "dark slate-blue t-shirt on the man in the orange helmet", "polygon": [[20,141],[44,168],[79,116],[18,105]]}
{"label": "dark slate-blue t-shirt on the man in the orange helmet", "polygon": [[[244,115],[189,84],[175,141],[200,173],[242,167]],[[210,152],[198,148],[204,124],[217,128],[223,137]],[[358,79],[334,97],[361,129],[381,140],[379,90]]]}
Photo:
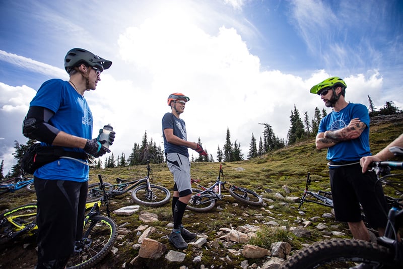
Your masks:
{"label": "dark slate-blue t-shirt on the man in the orange helmet", "polygon": [[167,142],[165,137],[164,129],[173,129],[173,134],[180,139],[187,140],[186,137],[186,124],[181,118],[177,118],[174,114],[168,112],[162,117],[162,134],[164,137],[164,149],[165,154],[168,153],[179,153],[186,157],[189,157],[189,152],[186,146],[179,146]]}

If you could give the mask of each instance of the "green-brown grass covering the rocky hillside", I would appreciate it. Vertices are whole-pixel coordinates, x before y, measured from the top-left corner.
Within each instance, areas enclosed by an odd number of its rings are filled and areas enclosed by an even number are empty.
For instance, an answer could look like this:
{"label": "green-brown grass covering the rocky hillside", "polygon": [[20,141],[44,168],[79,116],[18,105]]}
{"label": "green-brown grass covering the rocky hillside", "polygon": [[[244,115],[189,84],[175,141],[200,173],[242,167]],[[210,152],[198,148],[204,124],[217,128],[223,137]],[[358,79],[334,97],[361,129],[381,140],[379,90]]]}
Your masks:
{"label": "green-brown grass covering the rocky hillside", "polygon": [[[378,152],[391,141],[393,141],[398,134],[403,132],[403,119],[397,122],[384,121],[383,123],[374,124],[371,126],[370,132],[370,144],[372,152]],[[224,180],[227,180],[233,184],[240,185],[245,188],[249,188],[262,195],[265,199],[272,199],[273,202],[265,203],[265,210],[270,210],[271,213],[261,209],[260,207],[252,207],[243,205],[235,200],[233,197],[225,196],[223,200],[217,202],[216,206],[219,206],[223,210],[213,209],[207,213],[196,213],[192,211],[186,211],[183,219],[183,224],[189,230],[204,234],[208,236],[208,241],[213,241],[219,238],[219,231],[221,228],[236,228],[246,224],[256,225],[260,227],[259,232],[255,237],[251,238],[249,244],[255,244],[261,247],[270,249],[270,245],[277,241],[289,242],[293,249],[299,249],[302,244],[313,243],[314,241],[323,240],[327,238],[328,233],[334,228],[331,226],[337,226],[338,231],[342,231],[346,234],[346,237],[351,237],[350,232],[346,224],[338,223],[332,218],[321,218],[320,223],[327,225],[329,228],[324,232],[319,231],[315,226],[319,223],[312,223],[307,229],[311,231],[312,236],[310,238],[297,238],[290,231],[292,226],[303,225],[304,221],[309,220],[314,216],[321,217],[323,213],[329,213],[330,209],[313,203],[305,203],[303,205],[303,211],[305,215],[298,213],[298,204],[290,203],[287,199],[278,198],[275,193],[279,192],[283,196],[298,196],[301,197],[305,188],[307,173],[311,173],[312,184],[310,189],[312,191],[328,190],[329,179],[328,169],[326,166],[326,151],[318,151],[315,149],[314,139],[308,139],[297,143],[296,145],[288,146],[287,148],[271,152],[263,157],[253,160],[245,160],[232,163],[224,163]],[[191,175],[192,178],[200,179],[200,184],[209,186],[215,182],[219,173],[220,163],[192,163]],[[237,168],[243,168],[240,171]],[[172,175],[169,172],[166,164],[152,164],[152,183],[167,187],[172,192],[173,180]],[[134,166],[134,167],[119,167],[108,168],[90,171],[90,183],[98,182],[98,174],[101,174],[104,181],[115,182],[116,177],[123,179],[142,178],[147,175],[146,165]],[[286,193],[282,188],[284,185],[288,186],[290,193]],[[271,189],[272,192],[267,190]],[[390,190],[390,194],[396,195],[396,191]],[[228,191],[224,194],[229,195]],[[393,196],[392,195],[392,196]],[[19,190],[15,193],[4,195],[0,198],[0,210],[11,209],[26,203],[32,203],[35,201],[35,194],[26,192],[25,190]],[[236,206],[235,204],[238,204]],[[113,199],[111,210],[116,210],[123,206],[132,205],[130,194],[125,193],[121,197]],[[272,206],[270,209],[269,206]],[[169,244],[166,235],[169,234],[170,229],[166,225],[172,222],[172,212],[170,203],[159,207],[141,207],[141,211],[152,212],[158,215],[159,221],[150,223],[148,225],[154,226],[157,229],[157,233],[152,234],[151,238],[158,240],[159,242],[166,244],[168,250],[174,250]],[[146,225],[139,220],[139,214],[132,216],[117,216],[112,214],[112,218],[116,224],[126,224],[126,228],[130,230],[130,233],[124,237],[122,241],[118,241],[115,246],[119,249],[118,253],[114,256],[108,254],[106,258],[99,264],[101,268],[121,268],[122,264],[126,263],[126,268],[130,268],[130,261],[133,257],[137,256],[138,250],[132,248],[134,243],[137,243],[139,235],[135,230],[140,225]],[[284,230],[280,227],[268,227],[265,222],[275,220],[281,226],[285,226]],[[16,243],[16,247],[20,247],[21,252],[24,255],[28,253],[30,247],[23,249],[24,241]],[[34,245],[31,247],[35,252]],[[241,244],[235,244],[231,248],[240,250]],[[200,264],[205,264],[206,267],[214,268],[227,266],[225,257],[228,255],[232,263],[231,267],[239,268],[240,262],[244,259],[242,255],[232,255],[224,247],[218,249],[210,249],[203,247],[201,249],[195,249],[189,247],[185,251],[186,257],[182,262],[183,265],[187,265],[189,268],[199,268]],[[201,256],[201,263],[194,264],[193,258],[195,256]],[[4,264],[7,260],[7,254],[0,256],[0,264]],[[261,264],[263,259],[254,259],[249,261]],[[181,264],[181,265],[182,265]],[[102,267],[102,266],[103,267]],[[4,265],[3,265],[4,266]],[[17,264],[13,263],[13,266],[17,267]],[[178,268],[178,263],[168,264],[162,257],[157,260],[139,259],[136,264],[137,268],[151,268],[151,267],[163,267],[163,268]]]}

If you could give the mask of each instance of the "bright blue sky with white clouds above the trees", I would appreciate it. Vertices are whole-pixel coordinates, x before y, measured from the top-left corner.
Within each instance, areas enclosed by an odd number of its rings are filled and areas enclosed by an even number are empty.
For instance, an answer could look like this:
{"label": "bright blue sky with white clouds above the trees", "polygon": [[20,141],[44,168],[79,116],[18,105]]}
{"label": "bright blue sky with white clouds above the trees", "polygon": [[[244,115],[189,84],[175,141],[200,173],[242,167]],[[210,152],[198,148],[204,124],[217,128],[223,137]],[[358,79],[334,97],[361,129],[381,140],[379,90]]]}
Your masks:
{"label": "bright blue sky with white clouds above the trees", "polygon": [[69,80],[63,59],[74,47],[113,62],[84,96],[94,137],[114,127],[115,157],[127,158],[145,132],[163,148],[161,119],[179,92],[190,98],[180,116],[187,140],[200,138],[217,159],[228,128],[246,159],[259,123],[287,139],[294,105],[302,120],[315,107],[330,112],[309,93],[329,77],[345,80],[349,102],[368,107],[369,95],[377,108],[403,109],[402,15],[398,0],[0,0],[4,174],[14,141],[28,140],[30,101],[43,82]]}

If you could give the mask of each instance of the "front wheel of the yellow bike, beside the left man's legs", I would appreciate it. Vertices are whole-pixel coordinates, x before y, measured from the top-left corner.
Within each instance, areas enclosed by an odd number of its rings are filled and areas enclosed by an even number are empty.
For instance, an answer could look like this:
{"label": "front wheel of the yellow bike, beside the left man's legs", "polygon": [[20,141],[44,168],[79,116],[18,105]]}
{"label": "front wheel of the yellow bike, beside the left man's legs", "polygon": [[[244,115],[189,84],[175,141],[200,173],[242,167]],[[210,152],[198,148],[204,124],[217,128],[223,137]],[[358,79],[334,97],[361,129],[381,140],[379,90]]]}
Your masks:
{"label": "front wheel of the yellow bike, beside the left man's legs", "polygon": [[83,239],[76,242],[67,268],[88,268],[104,258],[116,241],[116,224],[104,216],[93,216],[86,223]]}

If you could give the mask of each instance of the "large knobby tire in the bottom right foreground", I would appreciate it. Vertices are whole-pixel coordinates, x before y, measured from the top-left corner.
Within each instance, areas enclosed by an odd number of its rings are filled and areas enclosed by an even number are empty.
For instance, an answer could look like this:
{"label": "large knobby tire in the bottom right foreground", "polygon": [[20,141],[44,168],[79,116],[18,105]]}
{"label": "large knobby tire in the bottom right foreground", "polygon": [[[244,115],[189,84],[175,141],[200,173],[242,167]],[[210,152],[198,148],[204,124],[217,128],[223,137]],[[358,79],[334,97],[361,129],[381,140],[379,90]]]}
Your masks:
{"label": "large knobby tire in the bottom right foreground", "polygon": [[373,265],[373,268],[400,268],[393,263],[392,252],[386,247],[367,241],[331,239],[300,249],[280,268],[350,268],[360,263]]}

